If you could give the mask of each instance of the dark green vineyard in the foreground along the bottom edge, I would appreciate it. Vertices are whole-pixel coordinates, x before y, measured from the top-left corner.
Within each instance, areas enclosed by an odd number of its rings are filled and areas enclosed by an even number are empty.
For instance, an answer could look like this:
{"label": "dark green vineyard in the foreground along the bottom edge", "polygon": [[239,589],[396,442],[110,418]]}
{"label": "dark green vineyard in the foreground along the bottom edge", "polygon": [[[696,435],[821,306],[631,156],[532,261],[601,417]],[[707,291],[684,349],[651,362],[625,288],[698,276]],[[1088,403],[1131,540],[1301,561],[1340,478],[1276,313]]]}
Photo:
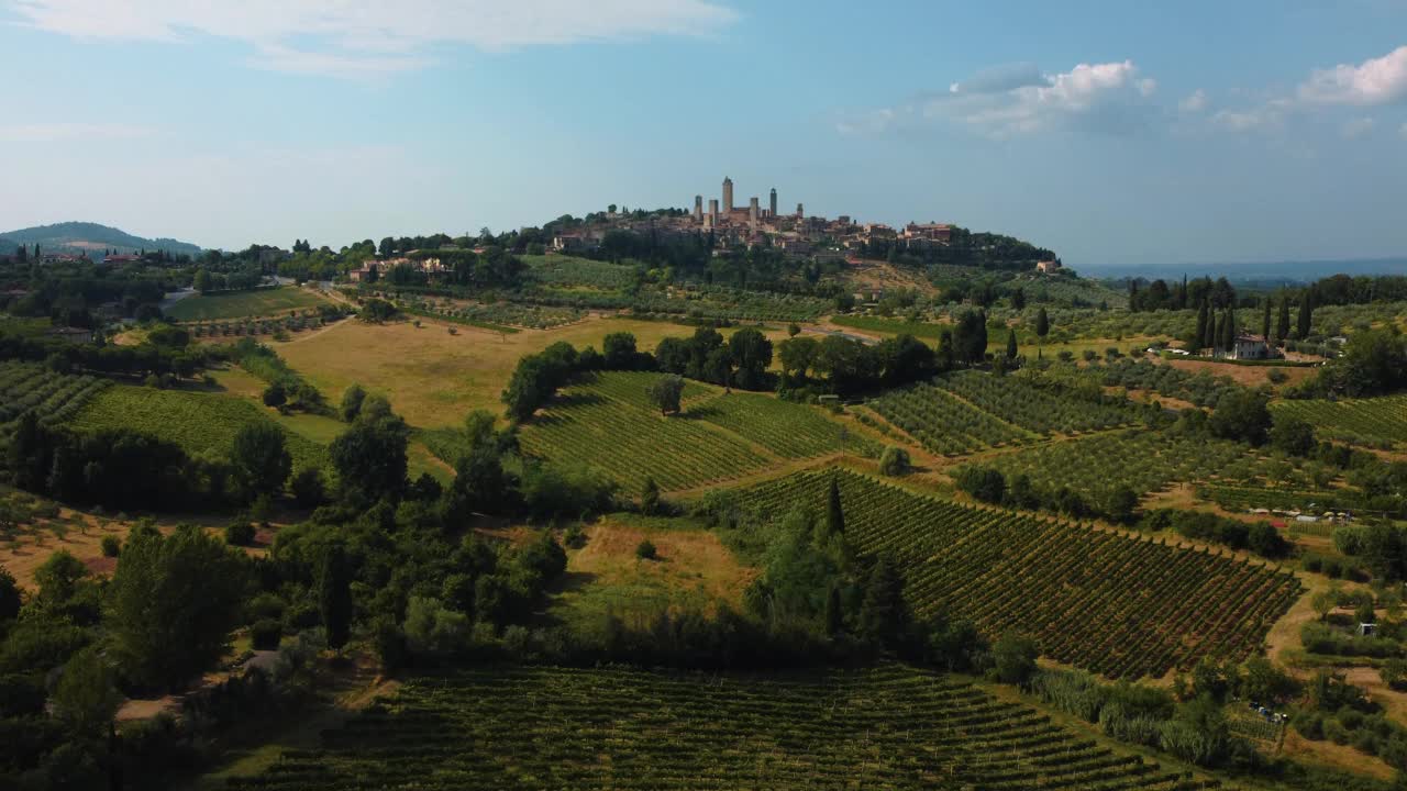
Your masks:
{"label": "dark green vineyard in the foreground along the bottom edge", "polygon": [[902,666],[770,678],[561,667],[408,680],[232,790],[1216,785]]}

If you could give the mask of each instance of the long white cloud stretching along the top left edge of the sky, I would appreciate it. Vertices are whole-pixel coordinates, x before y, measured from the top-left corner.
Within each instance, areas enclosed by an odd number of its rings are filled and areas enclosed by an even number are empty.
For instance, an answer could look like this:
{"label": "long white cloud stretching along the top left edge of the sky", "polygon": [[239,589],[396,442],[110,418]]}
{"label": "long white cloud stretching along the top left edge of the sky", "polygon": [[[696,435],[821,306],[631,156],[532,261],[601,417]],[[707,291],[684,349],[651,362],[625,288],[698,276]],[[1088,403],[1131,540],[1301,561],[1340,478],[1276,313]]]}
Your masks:
{"label": "long white cloud stretching along the top left edge of the sky", "polygon": [[[0,0],[4,3],[6,0]],[[366,76],[421,68],[433,45],[505,51],[708,35],[737,20],[713,0],[8,0],[21,23],[75,38],[243,41],[255,65]],[[297,44],[295,44],[297,42]],[[311,44],[310,44],[311,42]]]}

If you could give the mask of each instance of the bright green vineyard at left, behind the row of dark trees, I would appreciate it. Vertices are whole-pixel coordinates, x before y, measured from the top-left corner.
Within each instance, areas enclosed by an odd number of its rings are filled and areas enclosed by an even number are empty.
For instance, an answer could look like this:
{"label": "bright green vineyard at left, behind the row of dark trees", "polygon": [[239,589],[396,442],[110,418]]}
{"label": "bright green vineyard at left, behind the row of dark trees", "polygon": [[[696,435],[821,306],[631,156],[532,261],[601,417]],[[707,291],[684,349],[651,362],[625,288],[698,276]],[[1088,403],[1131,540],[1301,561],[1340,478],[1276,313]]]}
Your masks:
{"label": "bright green vineyard at left, behind the row of dark trees", "polygon": [[[132,429],[180,445],[190,455],[228,456],[241,426],[272,421],[263,408],[231,396],[113,386],[83,410],[70,425],[80,431]],[[284,431],[293,467],[326,467],[321,445]]]}

